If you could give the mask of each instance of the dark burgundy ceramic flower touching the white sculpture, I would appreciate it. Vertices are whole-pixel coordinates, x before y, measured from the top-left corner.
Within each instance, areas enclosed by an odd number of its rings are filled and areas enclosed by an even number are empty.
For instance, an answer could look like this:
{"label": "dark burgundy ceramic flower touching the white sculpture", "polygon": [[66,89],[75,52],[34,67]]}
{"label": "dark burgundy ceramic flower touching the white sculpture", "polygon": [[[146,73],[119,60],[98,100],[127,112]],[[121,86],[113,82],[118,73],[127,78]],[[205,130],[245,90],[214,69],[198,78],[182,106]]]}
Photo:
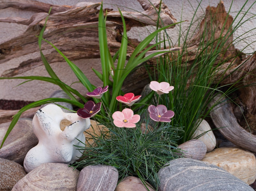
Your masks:
{"label": "dark burgundy ceramic flower touching the white sculpture", "polygon": [[78,109],[77,115],[86,119],[96,115],[101,109],[101,102],[94,104],[93,101],[87,101],[84,108]]}

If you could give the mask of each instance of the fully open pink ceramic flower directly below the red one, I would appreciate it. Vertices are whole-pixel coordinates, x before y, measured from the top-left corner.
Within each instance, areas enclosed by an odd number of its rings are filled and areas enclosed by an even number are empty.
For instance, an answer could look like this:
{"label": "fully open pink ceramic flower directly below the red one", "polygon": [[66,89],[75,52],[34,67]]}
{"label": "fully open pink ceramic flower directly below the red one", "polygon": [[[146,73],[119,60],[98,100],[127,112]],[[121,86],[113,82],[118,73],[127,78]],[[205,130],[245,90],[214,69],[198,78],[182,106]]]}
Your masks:
{"label": "fully open pink ceramic flower directly below the red one", "polygon": [[112,115],[114,119],[114,125],[117,127],[136,127],[135,123],[138,123],[140,116],[133,115],[133,110],[129,108],[123,109],[123,111],[116,111]]}

